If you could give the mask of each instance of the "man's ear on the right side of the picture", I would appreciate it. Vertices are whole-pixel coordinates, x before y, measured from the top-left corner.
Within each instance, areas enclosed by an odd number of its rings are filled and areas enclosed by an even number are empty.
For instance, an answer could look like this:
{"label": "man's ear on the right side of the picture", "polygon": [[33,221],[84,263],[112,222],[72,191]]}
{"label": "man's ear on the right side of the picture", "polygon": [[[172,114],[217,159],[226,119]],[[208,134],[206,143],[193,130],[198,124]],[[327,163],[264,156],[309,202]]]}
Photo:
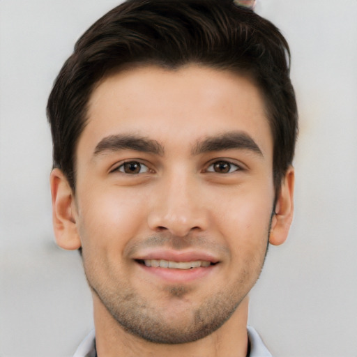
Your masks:
{"label": "man's ear on the right side of the picture", "polygon": [[271,221],[269,243],[273,245],[280,245],[287,240],[294,214],[294,181],[294,167],[289,167],[284,176],[275,204],[275,215]]}

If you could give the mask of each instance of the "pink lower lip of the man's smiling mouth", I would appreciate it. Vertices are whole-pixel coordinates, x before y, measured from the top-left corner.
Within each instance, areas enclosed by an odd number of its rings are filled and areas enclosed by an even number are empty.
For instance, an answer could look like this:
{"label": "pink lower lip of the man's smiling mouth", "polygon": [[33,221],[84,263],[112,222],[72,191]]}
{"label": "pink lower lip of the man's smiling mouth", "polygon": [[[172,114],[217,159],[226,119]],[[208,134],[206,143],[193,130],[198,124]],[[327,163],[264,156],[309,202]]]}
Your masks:
{"label": "pink lower lip of the man's smiling mouth", "polygon": [[205,278],[207,275],[213,273],[218,264],[199,267],[192,269],[172,269],[172,268],[155,268],[153,266],[146,266],[144,264],[137,263],[146,273],[155,275],[156,277],[165,280],[167,282],[192,282],[192,280],[198,280]]}

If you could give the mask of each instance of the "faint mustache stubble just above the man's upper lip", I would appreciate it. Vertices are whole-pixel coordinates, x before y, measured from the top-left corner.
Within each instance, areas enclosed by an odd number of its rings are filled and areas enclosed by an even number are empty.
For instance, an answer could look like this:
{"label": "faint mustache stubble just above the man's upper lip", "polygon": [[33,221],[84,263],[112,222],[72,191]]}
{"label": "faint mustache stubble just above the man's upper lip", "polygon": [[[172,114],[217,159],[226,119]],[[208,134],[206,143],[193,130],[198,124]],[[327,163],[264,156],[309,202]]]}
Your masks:
{"label": "faint mustache stubble just above the man's upper lip", "polygon": [[124,250],[128,257],[137,255],[146,248],[169,248],[173,250],[205,250],[208,252],[219,252],[224,255],[230,255],[230,250],[226,245],[212,241],[204,236],[173,236],[172,234],[158,233],[139,241],[132,241]]}

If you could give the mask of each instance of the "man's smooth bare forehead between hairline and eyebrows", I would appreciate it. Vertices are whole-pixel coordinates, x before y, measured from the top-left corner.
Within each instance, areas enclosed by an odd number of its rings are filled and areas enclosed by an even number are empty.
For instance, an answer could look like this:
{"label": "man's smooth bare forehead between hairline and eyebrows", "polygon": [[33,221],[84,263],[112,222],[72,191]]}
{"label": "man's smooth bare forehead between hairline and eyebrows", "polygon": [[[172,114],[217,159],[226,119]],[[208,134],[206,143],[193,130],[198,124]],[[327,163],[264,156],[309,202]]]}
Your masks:
{"label": "man's smooth bare forehead between hairline and eyebrows", "polygon": [[272,151],[264,100],[250,79],[228,70],[190,65],[176,70],[144,66],[102,80],[89,100],[79,146],[86,150],[109,135],[151,137],[165,146],[229,130],[248,133]]}

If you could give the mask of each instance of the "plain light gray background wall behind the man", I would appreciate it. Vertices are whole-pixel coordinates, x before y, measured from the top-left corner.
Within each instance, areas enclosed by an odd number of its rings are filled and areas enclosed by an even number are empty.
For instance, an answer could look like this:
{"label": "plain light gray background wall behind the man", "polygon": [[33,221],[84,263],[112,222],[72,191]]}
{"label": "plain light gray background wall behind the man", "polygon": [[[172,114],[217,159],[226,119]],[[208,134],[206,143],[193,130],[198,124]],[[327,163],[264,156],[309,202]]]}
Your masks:
{"label": "plain light gray background wall behind the man", "polygon": [[[0,0],[0,356],[71,356],[92,327],[77,252],[53,243],[54,77],[116,0]],[[296,214],[251,294],[275,357],[357,356],[357,0],[261,0],[291,45]]]}

